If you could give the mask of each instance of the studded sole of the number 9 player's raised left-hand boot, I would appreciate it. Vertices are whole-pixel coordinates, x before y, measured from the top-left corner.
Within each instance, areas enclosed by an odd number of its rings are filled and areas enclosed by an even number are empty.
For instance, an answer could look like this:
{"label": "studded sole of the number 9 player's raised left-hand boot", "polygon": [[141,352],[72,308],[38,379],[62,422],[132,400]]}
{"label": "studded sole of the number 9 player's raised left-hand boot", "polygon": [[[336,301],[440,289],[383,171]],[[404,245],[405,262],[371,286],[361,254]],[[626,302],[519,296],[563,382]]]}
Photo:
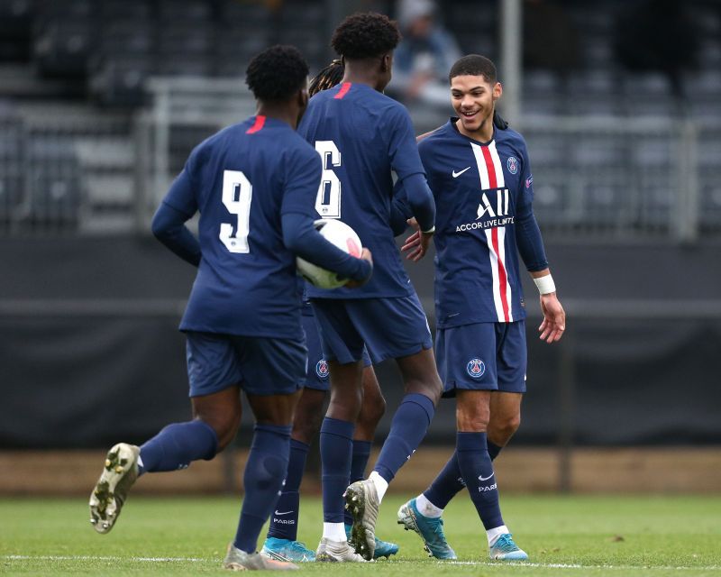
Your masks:
{"label": "studded sole of the number 9 player's raised left-hand boot", "polygon": [[136,462],[137,453],[129,444],[118,443],[108,451],[105,457],[105,470],[97,480],[88,503],[90,523],[98,533],[105,535],[114,527],[123,507],[122,504],[118,507],[115,500],[115,488],[128,473],[133,471]]}

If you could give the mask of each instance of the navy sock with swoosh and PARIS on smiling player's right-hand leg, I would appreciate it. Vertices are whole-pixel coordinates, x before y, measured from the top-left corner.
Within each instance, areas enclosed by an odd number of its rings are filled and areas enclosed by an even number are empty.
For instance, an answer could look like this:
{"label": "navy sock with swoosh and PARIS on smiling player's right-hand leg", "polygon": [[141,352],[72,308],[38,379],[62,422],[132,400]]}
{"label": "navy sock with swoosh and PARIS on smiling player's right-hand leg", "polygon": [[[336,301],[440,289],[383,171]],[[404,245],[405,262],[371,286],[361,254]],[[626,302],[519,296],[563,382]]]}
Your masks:
{"label": "navy sock with swoosh and PARIS on smiling player's right-hand leg", "polygon": [[503,525],[496,474],[488,455],[485,433],[457,433],[456,454],[470,499],[486,530]]}

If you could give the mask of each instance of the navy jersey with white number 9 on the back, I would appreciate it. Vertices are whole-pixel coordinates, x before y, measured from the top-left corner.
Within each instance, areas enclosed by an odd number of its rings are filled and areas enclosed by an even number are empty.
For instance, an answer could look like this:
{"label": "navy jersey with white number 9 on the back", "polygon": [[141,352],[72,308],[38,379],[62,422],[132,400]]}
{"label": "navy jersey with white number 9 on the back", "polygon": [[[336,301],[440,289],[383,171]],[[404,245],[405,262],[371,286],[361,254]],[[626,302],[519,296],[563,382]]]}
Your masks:
{"label": "navy jersey with white number 9 on the back", "polygon": [[163,202],[194,215],[202,259],[180,329],[302,338],[283,215],[317,218],[321,163],[286,123],[253,116],[190,154]]}

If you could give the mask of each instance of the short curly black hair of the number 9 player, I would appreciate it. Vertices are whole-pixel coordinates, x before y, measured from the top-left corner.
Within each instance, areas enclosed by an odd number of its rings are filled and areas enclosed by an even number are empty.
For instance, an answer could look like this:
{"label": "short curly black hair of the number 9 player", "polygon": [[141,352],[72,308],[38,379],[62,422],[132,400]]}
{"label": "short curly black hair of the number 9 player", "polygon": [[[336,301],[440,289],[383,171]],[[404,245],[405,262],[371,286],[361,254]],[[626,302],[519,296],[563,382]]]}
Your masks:
{"label": "short curly black hair of the number 9 player", "polygon": [[245,84],[259,100],[287,100],[306,86],[308,63],[295,46],[271,46],[251,60]]}

